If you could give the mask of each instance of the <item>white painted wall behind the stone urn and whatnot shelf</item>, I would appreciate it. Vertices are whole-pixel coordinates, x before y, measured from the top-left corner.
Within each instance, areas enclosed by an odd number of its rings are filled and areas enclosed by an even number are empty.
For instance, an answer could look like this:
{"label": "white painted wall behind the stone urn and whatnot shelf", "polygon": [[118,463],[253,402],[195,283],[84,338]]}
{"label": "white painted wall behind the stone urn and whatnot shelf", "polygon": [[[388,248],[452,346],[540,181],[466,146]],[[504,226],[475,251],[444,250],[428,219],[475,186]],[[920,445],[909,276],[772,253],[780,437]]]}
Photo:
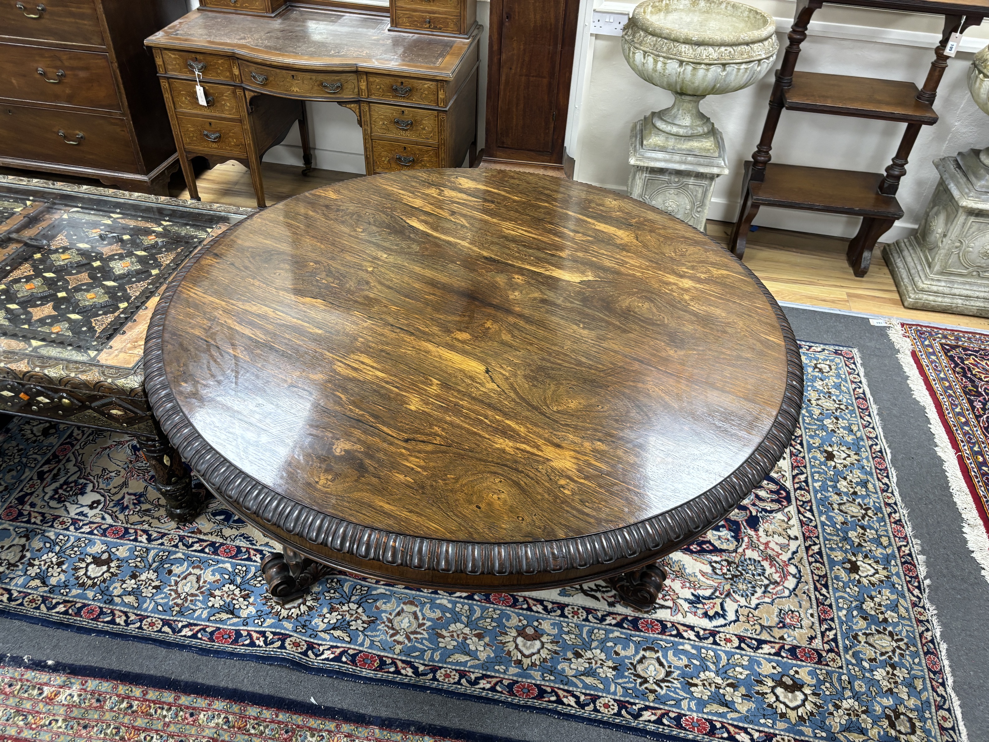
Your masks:
{"label": "white painted wall behind the stone urn and whatnot shelf", "polygon": [[[588,0],[589,2],[590,0]],[[794,3],[790,0],[749,0],[777,18],[781,31],[780,56],[786,45]],[[598,6],[604,5],[597,2]],[[609,10],[635,7],[634,2],[610,0]],[[933,48],[941,31],[941,18],[919,14],[865,11],[825,7],[815,14],[802,46],[798,69],[855,76],[914,80],[923,83],[934,58]],[[579,121],[568,151],[576,160],[575,178],[625,192],[628,181],[628,132],[632,123],[651,111],[670,105],[673,96],[640,79],[628,67],[618,37],[592,36],[584,27],[583,95],[572,101]],[[853,38],[842,38],[853,37]],[[978,38],[981,37],[981,38]],[[886,232],[884,240],[897,239],[917,228],[937,173],[936,157],[989,143],[989,118],[972,102],[965,74],[972,53],[987,43],[989,28],[972,29],[963,50],[949,62],[935,109],[942,121],[924,127],[907,165],[897,198],[904,218]],[[578,46],[580,56],[581,44]],[[778,62],[777,62],[778,66]],[[735,221],[739,208],[742,166],[752,156],[762,133],[766,103],[772,87],[771,71],[746,90],[711,96],[701,108],[722,131],[732,171],[715,184],[709,216]],[[903,124],[865,121],[838,116],[784,111],[773,141],[774,160],[849,170],[882,172],[889,164],[903,133]],[[851,236],[859,220],[764,208],[757,225]]]}

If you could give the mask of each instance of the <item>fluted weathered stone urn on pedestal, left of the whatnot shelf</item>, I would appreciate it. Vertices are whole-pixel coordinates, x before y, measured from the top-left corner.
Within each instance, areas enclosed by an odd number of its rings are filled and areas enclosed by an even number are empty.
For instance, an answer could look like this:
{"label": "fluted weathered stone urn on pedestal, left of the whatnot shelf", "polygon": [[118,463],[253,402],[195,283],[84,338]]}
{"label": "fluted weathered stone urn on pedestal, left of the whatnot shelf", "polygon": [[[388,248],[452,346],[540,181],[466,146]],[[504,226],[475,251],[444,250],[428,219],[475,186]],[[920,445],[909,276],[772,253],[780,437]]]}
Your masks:
{"label": "fluted weathered stone urn on pedestal, left of the whatnot shelf", "polygon": [[635,73],[674,94],[653,125],[679,137],[711,131],[697,105],[708,95],[752,85],[772,66],[779,43],[772,17],[733,0],[646,0],[625,25],[622,52]]}

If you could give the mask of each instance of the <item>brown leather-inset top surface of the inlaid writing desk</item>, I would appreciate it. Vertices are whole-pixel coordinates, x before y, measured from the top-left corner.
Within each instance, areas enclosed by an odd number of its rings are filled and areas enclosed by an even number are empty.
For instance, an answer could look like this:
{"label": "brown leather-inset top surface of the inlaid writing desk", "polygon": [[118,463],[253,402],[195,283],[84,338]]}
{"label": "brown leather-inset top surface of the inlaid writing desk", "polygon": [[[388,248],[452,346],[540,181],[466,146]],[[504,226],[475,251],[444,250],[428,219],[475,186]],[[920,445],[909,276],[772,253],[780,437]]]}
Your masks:
{"label": "brown leather-inset top surface of the inlaid writing desk", "polygon": [[389,31],[389,18],[289,8],[276,18],[193,11],[148,46],[231,52],[313,69],[407,70],[448,77],[480,35],[448,39]]}

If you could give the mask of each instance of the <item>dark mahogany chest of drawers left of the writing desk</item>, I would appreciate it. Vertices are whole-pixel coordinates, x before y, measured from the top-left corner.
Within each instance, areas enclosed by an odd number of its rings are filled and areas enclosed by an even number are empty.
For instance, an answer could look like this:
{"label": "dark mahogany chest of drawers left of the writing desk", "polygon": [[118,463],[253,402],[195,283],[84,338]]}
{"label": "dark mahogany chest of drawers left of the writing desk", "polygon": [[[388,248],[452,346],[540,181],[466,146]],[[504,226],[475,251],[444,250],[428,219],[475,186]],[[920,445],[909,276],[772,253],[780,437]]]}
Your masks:
{"label": "dark mahogany chest of drawers left of the writing desk", "polygon": [[185,0],[0,5],[0,165],[167,195],[178,167],[144,39]]}

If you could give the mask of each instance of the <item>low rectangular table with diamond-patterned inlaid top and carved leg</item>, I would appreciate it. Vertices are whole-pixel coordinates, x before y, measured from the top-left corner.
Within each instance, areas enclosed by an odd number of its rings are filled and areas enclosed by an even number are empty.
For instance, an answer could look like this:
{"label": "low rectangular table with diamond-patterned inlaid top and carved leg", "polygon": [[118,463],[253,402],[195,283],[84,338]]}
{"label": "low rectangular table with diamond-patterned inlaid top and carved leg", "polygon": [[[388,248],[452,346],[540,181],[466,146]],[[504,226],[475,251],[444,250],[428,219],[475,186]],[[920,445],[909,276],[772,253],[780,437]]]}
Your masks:
{"label": "low rectangular table with diamond-patterned inlaid top and carved leg", "polygon": [[254,211],[0,175],[0,414],[133,435],[169,517],[195,517],[144,394],[144,333],[182,262]]}

